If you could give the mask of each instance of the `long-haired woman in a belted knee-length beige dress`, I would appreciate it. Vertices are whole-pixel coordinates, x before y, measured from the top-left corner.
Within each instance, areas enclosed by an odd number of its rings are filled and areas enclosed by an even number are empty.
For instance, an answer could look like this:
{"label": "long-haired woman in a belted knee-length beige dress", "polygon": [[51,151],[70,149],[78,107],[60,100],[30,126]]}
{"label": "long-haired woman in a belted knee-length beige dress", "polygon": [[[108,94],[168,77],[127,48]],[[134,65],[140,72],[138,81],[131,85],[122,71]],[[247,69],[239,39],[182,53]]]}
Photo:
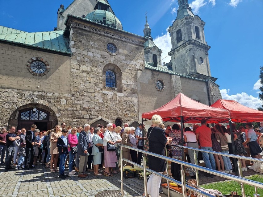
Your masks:
{"label": "long-haired woman in a belted knee-length beige dress", "polygon": [[[58,149],[56,147],[56,142],[59,137],[62,136],[62,132],[60,131],[60,126],[56,125],[54,131],[50,134],[49,141],[50,141],[50,171],[56,172],[57,169],[57,160],[58,160]],[[53,166],[54,165],[54,166]]]}

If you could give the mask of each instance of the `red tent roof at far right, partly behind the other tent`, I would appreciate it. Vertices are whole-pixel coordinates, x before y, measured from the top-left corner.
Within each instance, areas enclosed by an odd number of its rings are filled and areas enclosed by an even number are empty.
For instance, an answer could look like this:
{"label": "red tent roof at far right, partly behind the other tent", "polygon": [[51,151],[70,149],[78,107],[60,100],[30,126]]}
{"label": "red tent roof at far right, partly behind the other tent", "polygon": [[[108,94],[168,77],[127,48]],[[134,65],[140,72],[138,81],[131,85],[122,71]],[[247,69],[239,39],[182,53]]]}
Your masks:
{"label": "red tent roof at far right, partly behind the other tent", "polygon": [[219,99],[211,107],[227,109],[233,122],[260,122],[263,121],[263,112],[241,105],[236,101]]}

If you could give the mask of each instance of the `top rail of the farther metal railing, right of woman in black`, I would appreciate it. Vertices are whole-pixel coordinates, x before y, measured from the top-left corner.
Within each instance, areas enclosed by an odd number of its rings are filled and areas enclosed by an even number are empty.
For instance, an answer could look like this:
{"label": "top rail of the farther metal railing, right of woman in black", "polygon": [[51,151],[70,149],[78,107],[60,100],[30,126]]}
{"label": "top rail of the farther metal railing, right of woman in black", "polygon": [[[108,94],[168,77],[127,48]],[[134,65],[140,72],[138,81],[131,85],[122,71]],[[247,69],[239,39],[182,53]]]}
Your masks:
{"label": "top rail of the farther metal railing, right of woman in black", "polygon": [[189,147],[189,146],[181,146],[181,145],[175,145],[175,144],[170,144],[170,143],[168,145],[169,146],[176,146],[176,147],[183,148],[183,149],[196,150],[196,151],[199,151],[199,152],[217,154],[217,155],[226,156],[226,157],[232,157],[232,158],[237,158],[237,159],[245,159],[245,160],[249,160],[249,161],[253,161],[253,162],[261,162],[261,163],[263,163],[262,159],[257,159],[257,158],[252,158],[252,157],[240,156],[240,155],[229,154],[229,153],[215,152],[215,151],[211,151],[211,150],[192,148],[192,147]]}

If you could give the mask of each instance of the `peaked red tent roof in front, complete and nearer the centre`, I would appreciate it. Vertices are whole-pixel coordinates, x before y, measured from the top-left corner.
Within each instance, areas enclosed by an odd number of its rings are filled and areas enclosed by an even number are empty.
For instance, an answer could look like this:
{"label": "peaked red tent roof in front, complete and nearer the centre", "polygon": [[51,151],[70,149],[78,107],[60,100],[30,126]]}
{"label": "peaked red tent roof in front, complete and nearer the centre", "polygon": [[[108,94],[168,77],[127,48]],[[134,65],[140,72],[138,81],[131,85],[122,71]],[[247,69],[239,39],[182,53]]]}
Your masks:
{"label": "peaked red tent roof in front, complete and nearer the centre", "polygon": [[160,108],[143,113],[142,118],[151,119],[154,114],[160,115],[164,122],[180,122],[183,117],[185,123],[197,123],[203,118],[207,119],[208,123],[218,123],[227,122],[230,118],[228,110],[204,105],[182,93]]}

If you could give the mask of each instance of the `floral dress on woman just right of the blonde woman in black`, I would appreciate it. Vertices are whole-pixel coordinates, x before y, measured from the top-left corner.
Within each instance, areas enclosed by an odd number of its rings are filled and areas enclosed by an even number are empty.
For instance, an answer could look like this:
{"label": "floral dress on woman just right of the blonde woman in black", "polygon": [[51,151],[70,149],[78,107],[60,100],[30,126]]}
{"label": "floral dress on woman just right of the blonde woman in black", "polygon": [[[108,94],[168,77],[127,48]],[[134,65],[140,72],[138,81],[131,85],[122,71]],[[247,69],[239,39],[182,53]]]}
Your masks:
{"label": "floral dress on woman just right of the blonde woman in black", "polygon": [[[173,129],[169,132],[169,137],[172,137],[171,144],[174,145],[181,145],[182,143],[182,136],[181,131],[177,129]],[[171,146],[171,153],[172,158],[174,159],[182,159],[182,149],[176,146]]]}

